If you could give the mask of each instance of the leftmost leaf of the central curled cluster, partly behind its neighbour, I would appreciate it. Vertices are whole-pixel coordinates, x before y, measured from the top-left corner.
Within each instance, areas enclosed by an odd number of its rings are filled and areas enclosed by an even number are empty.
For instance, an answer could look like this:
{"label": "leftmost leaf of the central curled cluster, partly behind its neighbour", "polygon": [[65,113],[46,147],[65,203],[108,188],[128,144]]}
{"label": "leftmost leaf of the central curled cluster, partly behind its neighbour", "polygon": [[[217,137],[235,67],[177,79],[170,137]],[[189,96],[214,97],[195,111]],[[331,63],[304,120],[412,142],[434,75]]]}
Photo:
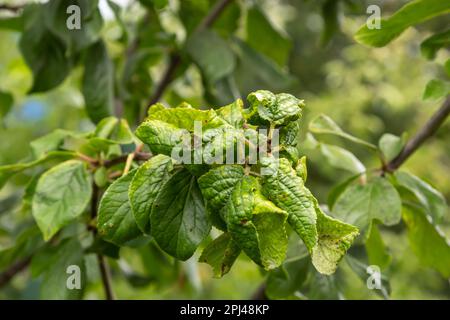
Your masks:
{"label": "leftmost leaf of the central curled cluster, partly behind its neighbour", "polygon": [[103,194],[98,208],[97,227],[100,236],[118,246],[141,235],[128,200],[128,189],[137,170],[114,181]]}

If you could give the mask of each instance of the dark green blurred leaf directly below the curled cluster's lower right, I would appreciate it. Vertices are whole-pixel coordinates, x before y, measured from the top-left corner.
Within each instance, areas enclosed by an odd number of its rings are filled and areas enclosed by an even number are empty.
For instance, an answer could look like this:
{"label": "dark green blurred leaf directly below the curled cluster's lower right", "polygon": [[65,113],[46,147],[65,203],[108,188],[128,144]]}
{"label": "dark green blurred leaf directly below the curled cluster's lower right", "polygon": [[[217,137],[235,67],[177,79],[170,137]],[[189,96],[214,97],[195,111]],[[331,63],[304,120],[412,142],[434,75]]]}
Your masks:
{"label": "dark green blurred leaf directly below the curled cluster's lower right", "polygon": [[270,299],[292,296],[305,283],[309,270],[307,256],[289,260],[272,270],[267,278],[266,294]]}

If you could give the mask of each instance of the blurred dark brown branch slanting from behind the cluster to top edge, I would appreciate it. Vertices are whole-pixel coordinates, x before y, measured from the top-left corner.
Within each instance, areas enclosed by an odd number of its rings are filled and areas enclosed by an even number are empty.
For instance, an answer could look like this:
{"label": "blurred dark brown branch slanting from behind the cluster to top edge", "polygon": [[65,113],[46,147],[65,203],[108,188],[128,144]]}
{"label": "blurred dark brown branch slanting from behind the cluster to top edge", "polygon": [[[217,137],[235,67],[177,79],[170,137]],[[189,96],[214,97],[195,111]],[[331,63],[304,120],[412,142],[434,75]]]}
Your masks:
{"label": "blurred dark brown branch slanting from behind the cluster to top edge", "polygon": [[[233,0],[219,0],[211,11],[202,19],[202,21],[195,28],[194,32],[199,32],[206,28],[212,26],[214,21],[220,16],[226,6],[231,3]],[[157,85],[155,92],[152,97],[149,99],[147,103],[147,109],[152,105],[158,102],[161,99],[164,91],[173,81],[173,75],[175,74],[176,69],[181,63],[181,55],[179,52],[173,52],[169,58],[169,64],[161,77],[161,81]]]}

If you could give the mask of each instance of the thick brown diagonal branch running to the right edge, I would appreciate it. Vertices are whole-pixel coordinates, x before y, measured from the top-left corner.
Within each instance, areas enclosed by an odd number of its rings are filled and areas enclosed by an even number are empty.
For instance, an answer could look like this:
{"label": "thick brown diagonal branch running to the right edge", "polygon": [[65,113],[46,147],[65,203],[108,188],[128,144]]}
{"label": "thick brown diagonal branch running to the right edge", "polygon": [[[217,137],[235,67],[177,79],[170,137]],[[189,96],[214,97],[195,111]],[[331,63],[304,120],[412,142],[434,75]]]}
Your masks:
{"label": "thick brown diagonal branch running to the right edge", "polygon": [[397,170],[425,142],[425,140],[436,133],[449,114],[450,96],[445,99],[439,110],[433,114],[416,135],[406,143],[400,154],[386,165],[383,171],[393,172]]}

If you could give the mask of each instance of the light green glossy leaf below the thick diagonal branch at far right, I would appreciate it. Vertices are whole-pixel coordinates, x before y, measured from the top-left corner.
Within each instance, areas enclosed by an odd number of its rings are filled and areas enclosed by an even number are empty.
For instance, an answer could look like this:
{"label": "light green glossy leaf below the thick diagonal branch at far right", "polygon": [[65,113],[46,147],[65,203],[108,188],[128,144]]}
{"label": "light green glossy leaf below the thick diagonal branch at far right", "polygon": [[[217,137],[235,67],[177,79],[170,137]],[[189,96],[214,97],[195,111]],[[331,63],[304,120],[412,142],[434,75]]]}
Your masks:
{"label": "light green glossy leaf below the thick diagonal branch at far right", "polygon": [[431,185],[405,171],[396,172],[395,179],[398,185],[414,194],[427,214],[433,218],[433,223],[439,224],[447,215],[448,206],[445,197]]}

